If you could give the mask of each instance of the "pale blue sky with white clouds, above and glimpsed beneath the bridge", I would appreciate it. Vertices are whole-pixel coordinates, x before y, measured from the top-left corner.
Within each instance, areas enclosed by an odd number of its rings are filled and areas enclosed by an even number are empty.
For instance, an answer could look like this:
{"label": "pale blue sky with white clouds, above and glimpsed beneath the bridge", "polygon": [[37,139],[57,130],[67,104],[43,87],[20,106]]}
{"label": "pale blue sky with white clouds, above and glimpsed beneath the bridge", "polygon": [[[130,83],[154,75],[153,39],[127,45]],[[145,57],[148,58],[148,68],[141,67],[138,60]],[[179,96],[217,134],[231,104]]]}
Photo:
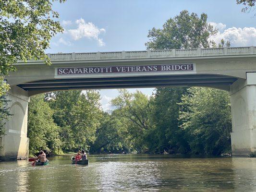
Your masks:
{"label": "pale blue sky with white clouds, above and glimpsed beneath the bridge", "polygon": [[[67,0],[55,2],[63,34],[51,39],[47,53],[145,50],[148,30],[161,28],[182,10],[200,15],[219,28],[211,37],[229,40],[232,47],[256,46],[256,16],[243,13],[236,0]],[[256,12],[256,11],[255,11]],[[138,89],[151,95],[153,88]],[[134,92],[136,89],[129,89]],[[105,111],[118,90],[100,90]]]}

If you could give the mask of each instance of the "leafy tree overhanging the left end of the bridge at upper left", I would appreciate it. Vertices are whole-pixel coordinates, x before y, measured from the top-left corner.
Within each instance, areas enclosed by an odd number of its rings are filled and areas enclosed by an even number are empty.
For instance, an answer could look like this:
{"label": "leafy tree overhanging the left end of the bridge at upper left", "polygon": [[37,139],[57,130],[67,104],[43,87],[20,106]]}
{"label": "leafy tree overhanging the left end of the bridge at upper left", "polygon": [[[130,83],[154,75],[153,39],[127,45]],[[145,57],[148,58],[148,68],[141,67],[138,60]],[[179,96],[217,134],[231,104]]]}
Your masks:
{"label": "leafy tree overhanging the left end of the bridge at upper left", "polygon": [[15,71],[13,63],[35,59],[50,64],[44,51],[51,37],[63,31],[51,1],[57,0],[0,0],[0,96],[8,88],[3,76]]}

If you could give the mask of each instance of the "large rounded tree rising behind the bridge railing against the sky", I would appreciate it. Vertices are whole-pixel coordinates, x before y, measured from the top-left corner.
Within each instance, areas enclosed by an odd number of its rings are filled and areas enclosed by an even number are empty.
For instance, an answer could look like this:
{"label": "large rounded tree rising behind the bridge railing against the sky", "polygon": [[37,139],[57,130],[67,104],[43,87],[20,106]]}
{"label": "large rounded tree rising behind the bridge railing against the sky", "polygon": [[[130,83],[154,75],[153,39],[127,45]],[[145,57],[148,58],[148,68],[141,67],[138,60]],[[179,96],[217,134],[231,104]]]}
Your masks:
{"label": "large rounded tree rising behind the bridge railing against the sky", "polygon": [[155,27],[149,30],[146,49],[181,49],[181,48],[209,48],[215,45],[209,41],[210,36],[218,32],[211,24],[207,23],[207,14],[200,17],[184,10],[173,19],[170,18],[162,29]]}

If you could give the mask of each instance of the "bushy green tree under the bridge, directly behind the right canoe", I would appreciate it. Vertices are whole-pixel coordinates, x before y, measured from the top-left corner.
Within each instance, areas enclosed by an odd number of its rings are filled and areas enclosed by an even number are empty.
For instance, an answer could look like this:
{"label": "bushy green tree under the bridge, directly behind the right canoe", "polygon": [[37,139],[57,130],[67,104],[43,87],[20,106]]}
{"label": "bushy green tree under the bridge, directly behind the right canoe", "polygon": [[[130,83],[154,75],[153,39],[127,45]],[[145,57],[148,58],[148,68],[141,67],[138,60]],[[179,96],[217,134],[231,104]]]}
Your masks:
{"label": "bushy green tree under the bridge, directly behind the right canoe", "polygon": [[54,110],[54,122],[61,127],[60,137],[64,151],[89,149],[96,140],[102,112],[97,91],[58,91],[46,98]]}

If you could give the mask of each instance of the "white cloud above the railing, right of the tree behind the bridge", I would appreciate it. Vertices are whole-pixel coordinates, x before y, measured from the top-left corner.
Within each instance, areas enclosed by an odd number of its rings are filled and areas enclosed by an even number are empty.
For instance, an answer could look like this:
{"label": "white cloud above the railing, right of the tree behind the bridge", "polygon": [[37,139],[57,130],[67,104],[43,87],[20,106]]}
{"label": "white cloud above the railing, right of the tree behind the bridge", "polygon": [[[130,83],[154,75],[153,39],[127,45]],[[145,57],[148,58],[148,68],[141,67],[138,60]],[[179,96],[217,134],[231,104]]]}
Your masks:
{"label": "white cloud above the railing, right of the tree behind the bridge", "polygon": [[210,40],[214,40],[217,44],[221,39],[230,41],[232,47],[255,46],[256,45],[256,28],[231,27],[225,29],[222,33],[218,32],[216,36],[211,36]]}

